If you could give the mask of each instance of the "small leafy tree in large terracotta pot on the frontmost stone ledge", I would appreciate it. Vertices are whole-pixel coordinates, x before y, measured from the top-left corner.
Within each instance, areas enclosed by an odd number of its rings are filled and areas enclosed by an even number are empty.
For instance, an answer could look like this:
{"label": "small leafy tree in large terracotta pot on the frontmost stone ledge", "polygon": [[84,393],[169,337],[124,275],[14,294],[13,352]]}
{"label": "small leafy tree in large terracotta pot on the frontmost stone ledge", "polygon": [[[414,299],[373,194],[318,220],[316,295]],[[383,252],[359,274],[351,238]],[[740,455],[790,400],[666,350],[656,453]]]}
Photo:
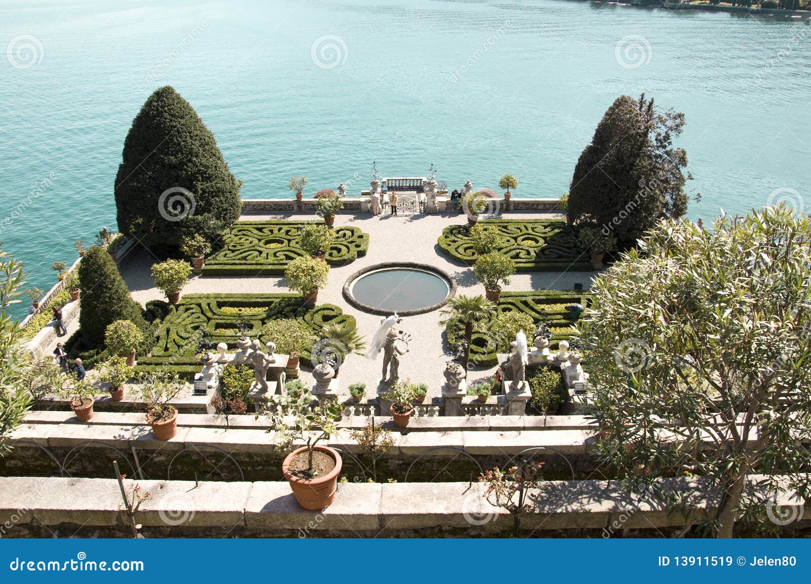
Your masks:
{"label": "small leafy tree in large terracotta pot on the frontmost stone ledge", "polygon": [[[335,498],[338,475],[341,474],[341,454],[318,443],[337,432],[337,421],[343,407],[332,401],[316,405],[318,399],[303,390],[291,395],[273,395],[275,408],[266,414],[276,433],[276,446],[288,450],[294,441],[304,445],[290,452],[281,463],[281,471],[293,489],[298,505],[318,511]],[[285,420],[285,417],[287,420]],[[294,426],[290,428],[290,417]]]}

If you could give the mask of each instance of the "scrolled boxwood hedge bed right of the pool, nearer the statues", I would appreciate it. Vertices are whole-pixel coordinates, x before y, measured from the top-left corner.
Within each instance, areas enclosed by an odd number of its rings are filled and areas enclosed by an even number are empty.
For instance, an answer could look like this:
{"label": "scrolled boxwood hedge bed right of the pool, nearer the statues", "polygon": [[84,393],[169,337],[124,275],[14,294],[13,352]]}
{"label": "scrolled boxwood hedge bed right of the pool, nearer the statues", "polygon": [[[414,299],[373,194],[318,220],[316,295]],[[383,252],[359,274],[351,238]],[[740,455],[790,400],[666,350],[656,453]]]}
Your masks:
{"label": "scrolled boxwood hedge bed right of the pool, nearer the statues", "polygon": [[[533,322],[546,324],[551,329],[549,339],[549,349],[557,350],[558,343],[562,340],[569,340],[570,330],[573,323],[569,311],[565,309],[567,305],[580,304],[588,307],[591,304],[591,297],[585,292],[561,292],[558,290],[535,290],[532,292],[501,292],[496,312],[498,314],[508,313],[518,310],[529,314]],[[499,342],[495,333],[495,318],[491,318],[485,324],[485,331],[473,334],[470,343],[470,363],[483,367],[492,367],[498,363],[496,353],[507,352],[509,340],[503,339]],[[448,345],[453,346],[461,342],[463,327],[457,322],[448,322],[445,327],[448,336]],[[512,339],[514,340],[514,339]],[[527,339],[530,343],[530,350],[533,339]]]}

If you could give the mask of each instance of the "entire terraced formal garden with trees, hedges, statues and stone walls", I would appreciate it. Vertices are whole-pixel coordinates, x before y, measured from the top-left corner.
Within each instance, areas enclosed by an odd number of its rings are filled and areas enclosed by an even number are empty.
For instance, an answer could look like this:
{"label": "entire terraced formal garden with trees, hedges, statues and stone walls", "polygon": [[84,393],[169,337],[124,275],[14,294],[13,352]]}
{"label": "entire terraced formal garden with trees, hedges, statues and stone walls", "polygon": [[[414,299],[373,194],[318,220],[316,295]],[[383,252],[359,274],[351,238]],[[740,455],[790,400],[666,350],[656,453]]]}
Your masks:
{"label": "entire terraced formal garden with trees, hedges, statues and stone walls", "polygon": [[[125,141],[120,235],[77,242],[44,296],[0,252],[0,494],[39,509],[80,486],[15,529],[290,536],[328,508],[311,529],[807,533],[811,224],[684,220],[683,124],[618,98],[569,194],[531,211],[512,175],[504,198],[468,181],[460,211],[433,168],[384,185],[373,166],[352,211],[320,190],[313,214],[294,177],[292,211],[254,213],[191,104],[157,90]],[[379,215],[384,186],[413,209]],[[371,309],[346,297],[364,287]],[[178,505],[201,519],[166,521]]]}

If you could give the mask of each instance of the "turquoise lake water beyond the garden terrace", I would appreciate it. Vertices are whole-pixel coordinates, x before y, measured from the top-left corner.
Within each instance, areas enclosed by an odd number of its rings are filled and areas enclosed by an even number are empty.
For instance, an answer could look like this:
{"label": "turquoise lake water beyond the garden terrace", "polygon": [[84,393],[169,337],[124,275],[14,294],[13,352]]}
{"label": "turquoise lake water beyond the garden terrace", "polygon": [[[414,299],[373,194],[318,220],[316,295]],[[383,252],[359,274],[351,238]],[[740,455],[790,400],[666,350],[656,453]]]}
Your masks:
{"label": "turquoise lake water beyond the garden terrace", "polygon": [[0,4],[0,240],[39,288],[114,227],[124,136],[165,84],[246,198],[302,173],[309,194],[358,192],[372,160],[557,197],[608,105],[643,91],[685,113],[693,219],[811,194],[808,23],[575,0],[64,4]]}

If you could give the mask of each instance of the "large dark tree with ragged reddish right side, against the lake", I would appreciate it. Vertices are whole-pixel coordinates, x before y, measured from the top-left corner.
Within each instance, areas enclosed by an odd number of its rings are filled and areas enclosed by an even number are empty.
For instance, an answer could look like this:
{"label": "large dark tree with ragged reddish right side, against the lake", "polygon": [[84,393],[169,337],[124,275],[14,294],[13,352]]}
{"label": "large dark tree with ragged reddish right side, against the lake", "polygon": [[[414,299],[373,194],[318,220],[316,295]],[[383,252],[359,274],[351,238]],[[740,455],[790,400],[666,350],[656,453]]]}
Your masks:
{"label": "large dark tree with ragged reddish right side, against the lake", "polygon": [[682,169],[687,153],[672,146],[684,114],[657,112],[645,94],[618,97],[577,160],[569,190],[569,215],[633,242],[663,217],[687,211]]}

